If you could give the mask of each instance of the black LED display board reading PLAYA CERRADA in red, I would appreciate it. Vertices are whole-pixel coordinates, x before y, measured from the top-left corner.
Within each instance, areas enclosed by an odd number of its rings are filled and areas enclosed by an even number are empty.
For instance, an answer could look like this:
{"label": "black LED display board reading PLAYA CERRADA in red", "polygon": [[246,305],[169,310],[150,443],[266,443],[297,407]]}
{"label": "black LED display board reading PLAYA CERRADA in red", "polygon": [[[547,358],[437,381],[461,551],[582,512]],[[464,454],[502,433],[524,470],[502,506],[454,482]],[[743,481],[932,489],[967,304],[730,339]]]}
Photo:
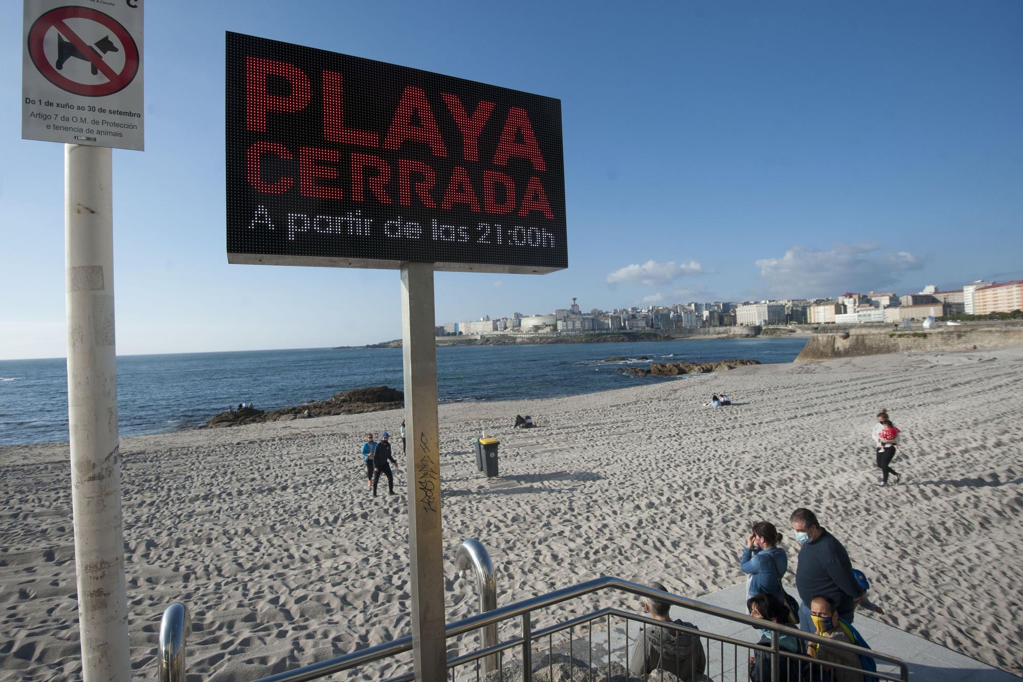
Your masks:
{"label": "black LED display board reading PLAYA CERRADA in red", "polygon": [[561,100],[227,34],[232,263],[568,267]]}

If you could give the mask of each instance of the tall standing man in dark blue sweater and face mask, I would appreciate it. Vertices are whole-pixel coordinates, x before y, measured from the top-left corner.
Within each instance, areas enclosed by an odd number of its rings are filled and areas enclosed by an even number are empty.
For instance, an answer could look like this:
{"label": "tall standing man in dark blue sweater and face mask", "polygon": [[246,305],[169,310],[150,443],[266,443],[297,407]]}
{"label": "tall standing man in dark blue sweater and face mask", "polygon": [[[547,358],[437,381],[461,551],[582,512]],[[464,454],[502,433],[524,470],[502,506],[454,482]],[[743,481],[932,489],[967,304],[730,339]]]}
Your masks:
{"label": "tall standing man in dark blue sweater and face mask", "polygon": [[799,550],[796,568],[796,591],[799,593],[799,629],[816,633],[810,617],[810,602],[817,595],[825,595],[835,602],[839,617],[852,623],[856,604],[866,594],[859,587],[852,572],[849,554],[835,536],[817,523],[809,509],[799,508],[789,517]]}

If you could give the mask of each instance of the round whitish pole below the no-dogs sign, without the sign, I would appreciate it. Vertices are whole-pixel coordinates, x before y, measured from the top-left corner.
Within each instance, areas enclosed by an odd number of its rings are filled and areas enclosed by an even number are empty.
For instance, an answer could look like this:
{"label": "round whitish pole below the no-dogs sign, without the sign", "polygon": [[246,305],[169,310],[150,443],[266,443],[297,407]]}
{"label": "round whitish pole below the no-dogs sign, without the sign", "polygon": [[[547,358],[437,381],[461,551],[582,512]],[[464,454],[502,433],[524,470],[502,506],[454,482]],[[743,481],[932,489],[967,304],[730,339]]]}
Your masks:
{"label": "round whitish pole below the no-dogs sign, without the sign", "polygon": [[110,150],[64,144],[68,420],[82,677],[131,679],[114,337]]}

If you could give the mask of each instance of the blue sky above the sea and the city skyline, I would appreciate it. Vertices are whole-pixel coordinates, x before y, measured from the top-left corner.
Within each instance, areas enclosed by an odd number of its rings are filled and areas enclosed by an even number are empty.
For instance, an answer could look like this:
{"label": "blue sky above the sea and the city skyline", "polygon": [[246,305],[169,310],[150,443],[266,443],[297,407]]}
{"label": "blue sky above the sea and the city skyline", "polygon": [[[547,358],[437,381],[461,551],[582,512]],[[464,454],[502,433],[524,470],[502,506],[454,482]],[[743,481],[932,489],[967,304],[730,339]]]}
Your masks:
{"label": "blue sky above the sea and the city skyline", "polygon": [[[228,265],[224,32],[562,99],[567,270],[437,274],[438,322],[1023,278],[1023,3],[148,2],[114,153],[118,351],[400,336],[394,270]],[[21,3],[0,3],[20,59]],[[61,356],[62,150],[0,74],[0,358]]]}

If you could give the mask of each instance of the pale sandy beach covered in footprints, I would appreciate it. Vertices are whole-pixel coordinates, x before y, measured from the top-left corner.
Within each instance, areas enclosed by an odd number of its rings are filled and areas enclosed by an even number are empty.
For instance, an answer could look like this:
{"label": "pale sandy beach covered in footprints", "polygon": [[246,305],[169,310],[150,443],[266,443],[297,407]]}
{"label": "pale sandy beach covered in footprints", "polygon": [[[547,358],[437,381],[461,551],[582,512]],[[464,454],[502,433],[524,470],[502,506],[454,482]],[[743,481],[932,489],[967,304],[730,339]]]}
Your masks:
{"label": "pale sandy beach covered in footprints", "polygon": [[[806,506],[872,578],[886,609],[877,617],[1021,675],[1023,578],[1012,560],[1023,546],[1021,382],[1023,348],[1011,348],[442,406],[447,617],[476,610],[475,586],[453,563],[466,538],[490,550],[498,604],[601,574],[696,597],[744,582],[739,555],[755,521],[784,528],[794,570],[787,520]],[[736,404],[702,407],[721,391]],[[876,485],[871,447],[880,408],[903,430],[893,463],[902,482],[887,488]],[[538,428],[514,431],[516,414]],[[395,433],[401,419],[123,438],[136,674],[154,675],[160,619],[176,600],[192,612],[189,672],[217,682],[408,634],[405,477],[400,495],[373,499],[357,455],[362,434]],[[501,475],[489,482],[471,453],[484,427],[501,440]],[[0,447],[0,680],[75,677],[66,443]],[[793,576],[786,583],[794,593]]]}

